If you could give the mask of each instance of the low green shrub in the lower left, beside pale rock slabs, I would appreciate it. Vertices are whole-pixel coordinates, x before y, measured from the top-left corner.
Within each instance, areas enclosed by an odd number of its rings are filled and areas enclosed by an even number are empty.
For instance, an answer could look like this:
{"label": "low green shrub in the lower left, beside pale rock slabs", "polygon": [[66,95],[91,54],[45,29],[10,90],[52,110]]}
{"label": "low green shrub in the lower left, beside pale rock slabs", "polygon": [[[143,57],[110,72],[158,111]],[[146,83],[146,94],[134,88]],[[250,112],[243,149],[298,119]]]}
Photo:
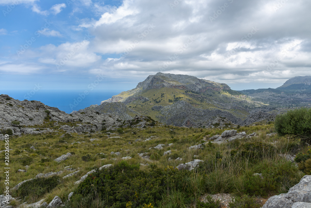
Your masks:
{"label": "low green shrub in the lower left, beside pale rock slabs", "polygon": [[23,183],[16,191],[17,196],[23,198],[25,201],[33,202],[40,199],[44,194],[52,191],[60,180],[58,176],[48,178],[36,178],[31,181]]}

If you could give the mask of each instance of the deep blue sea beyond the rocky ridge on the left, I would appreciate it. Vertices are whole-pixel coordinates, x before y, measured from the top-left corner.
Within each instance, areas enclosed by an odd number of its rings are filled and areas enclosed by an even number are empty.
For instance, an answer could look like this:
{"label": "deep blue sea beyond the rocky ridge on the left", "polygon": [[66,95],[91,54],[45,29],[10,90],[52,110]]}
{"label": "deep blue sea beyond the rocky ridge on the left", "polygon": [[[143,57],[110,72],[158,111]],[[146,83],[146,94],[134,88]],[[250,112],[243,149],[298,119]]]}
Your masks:
{"label": "deep blue sea beyond the rocky ridge on the left", "polygon": [[17,100],[37,100],[45,105],[56,107],[66,113],[73,110],[80,110],[90,105],[98,104],[112,95],[119,94],[121,91],[88,91],[84,94],[84,90],[0,90],[0,94],[7,94]]}

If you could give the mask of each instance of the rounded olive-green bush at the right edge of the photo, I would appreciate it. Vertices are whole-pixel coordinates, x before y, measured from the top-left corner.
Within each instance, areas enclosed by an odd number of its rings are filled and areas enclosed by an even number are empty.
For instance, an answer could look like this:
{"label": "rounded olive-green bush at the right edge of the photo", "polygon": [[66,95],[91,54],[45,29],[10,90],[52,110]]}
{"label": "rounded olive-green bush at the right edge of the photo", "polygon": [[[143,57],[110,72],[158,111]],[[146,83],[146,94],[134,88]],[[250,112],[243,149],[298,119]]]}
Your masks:
{"label": "rounded olive-green bush at the right edge of the photo", "polygon": [[277,115],[274,126],[280,135],[291,134],[310,138],[311,109],[295,109],[287,111],[287,114]]}

